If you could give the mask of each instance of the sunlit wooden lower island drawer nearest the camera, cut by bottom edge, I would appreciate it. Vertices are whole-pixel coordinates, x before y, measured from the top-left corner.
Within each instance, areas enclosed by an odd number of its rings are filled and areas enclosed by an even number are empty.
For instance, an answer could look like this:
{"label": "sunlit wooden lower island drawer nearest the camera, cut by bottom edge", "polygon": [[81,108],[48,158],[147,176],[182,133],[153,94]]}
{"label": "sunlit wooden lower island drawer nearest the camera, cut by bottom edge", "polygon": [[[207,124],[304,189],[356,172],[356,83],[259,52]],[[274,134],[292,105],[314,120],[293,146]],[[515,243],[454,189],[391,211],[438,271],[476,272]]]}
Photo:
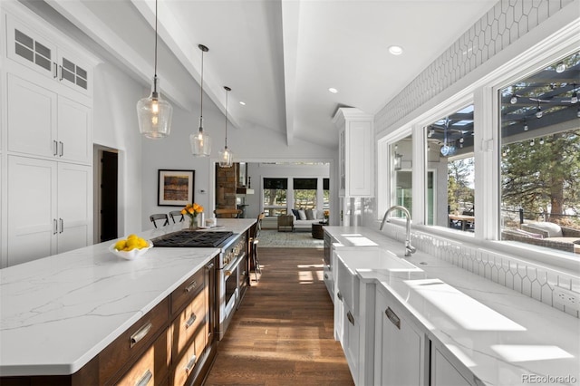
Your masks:
{"label": "sunlit wooden lower island drawer nearest the camera, cut by bottom edge", "polygon": [[115,384],[136,386],[167,384],[170,358],[168,334],[169,330],[161,333],[155,343],[151,344],[150,348]]}

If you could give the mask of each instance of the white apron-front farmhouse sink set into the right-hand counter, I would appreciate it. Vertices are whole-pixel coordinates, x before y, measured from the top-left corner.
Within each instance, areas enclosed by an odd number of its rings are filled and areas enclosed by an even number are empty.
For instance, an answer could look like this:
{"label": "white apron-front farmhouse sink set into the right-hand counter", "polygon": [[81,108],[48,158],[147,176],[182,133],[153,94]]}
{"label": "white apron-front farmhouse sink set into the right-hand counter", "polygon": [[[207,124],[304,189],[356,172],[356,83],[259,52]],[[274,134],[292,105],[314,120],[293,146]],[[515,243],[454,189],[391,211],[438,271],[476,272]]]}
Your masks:
{"label": "white apron-front farmhouse sink set into the right-hand counter", "polygon": [[337,253],[336,275],[339,294],[343,302],[358,310],[360,278],[357,272],[368,271],[402,279],[422,279],[425,273],[391,251],[382,249],[359,249]]}

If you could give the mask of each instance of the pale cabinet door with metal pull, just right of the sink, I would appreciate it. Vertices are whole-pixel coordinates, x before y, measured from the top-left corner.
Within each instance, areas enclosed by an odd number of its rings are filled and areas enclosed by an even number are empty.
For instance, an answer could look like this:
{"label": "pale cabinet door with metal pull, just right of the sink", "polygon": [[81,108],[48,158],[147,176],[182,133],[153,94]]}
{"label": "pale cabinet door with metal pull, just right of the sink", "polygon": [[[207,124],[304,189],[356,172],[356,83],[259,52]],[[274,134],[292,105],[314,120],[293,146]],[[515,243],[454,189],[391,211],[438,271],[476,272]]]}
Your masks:
{"label": "pale cabinet door with metal pull, just right of the sink", "polygon": [[425,385],[425,335],[404,316],[394,297],[379,285],[374,317],[375,384]]}

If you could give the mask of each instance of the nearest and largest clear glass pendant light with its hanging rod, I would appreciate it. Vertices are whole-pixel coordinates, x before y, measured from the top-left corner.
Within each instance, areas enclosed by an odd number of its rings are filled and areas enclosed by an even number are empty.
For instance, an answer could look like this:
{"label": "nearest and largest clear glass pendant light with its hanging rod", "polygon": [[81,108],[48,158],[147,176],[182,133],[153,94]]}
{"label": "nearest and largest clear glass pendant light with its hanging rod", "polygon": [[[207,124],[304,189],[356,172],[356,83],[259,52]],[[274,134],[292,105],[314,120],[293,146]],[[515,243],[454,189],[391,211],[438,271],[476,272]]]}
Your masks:
{"label": "nearest and largest clear glass pendant light with its hanging rod", "polygon": [[157,77],[157,0],[155,1],[155,75],[151,94],[137,102],[137,119],[139,131],[150,139],[160,139],[169,136],[171,131],[171,116],[173,107],[160,97],[160,80]]}

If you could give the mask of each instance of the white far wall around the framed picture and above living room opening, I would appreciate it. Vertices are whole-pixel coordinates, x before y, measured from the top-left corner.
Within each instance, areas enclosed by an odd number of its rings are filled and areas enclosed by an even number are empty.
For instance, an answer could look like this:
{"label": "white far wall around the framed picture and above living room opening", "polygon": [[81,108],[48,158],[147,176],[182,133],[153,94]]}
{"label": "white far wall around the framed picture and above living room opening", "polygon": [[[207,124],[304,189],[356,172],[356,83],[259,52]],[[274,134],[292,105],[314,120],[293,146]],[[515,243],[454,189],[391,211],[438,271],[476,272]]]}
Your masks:
{"label": "white far wall around the framed picture and above living room opening", "polygon": [[[214,164],[218,152],[225,145],[225,116],[215,104],[204,97],[204,131],[212,138],[212,151],[209,158],[197,158],[191,155],[189,134],[198,132],[199,106],[192,111],[184,111],[173,106],[171,134],[163,140],[142,140],[142,213],[141,228],[152,227],[149,221],[151,213],[168,213],[179,207],[159,207],[157,205],[158,169],[193,169],[195,170],[194,200],[205,208],[207,215],[213,211],[215,202]],[[338,136],[338,131],[336,133]],[[273,161],[321,161],[330,162],[337,151],[314,145],[303,140],[295,140],[291,147],[286,145],[285,132],[276,132],[262,128],[232,128],[228,124],[227,147],[234,152],[234,161],[273,162]],[[252,176],[252,187],[258,196],[260,178]],[[200,190],[205,190],[201,193]],[[333,199],[333,198],[332,198]],[[256,204],[247,217],[257,217]],[[146,216],[147,215],[147,216]]]}

